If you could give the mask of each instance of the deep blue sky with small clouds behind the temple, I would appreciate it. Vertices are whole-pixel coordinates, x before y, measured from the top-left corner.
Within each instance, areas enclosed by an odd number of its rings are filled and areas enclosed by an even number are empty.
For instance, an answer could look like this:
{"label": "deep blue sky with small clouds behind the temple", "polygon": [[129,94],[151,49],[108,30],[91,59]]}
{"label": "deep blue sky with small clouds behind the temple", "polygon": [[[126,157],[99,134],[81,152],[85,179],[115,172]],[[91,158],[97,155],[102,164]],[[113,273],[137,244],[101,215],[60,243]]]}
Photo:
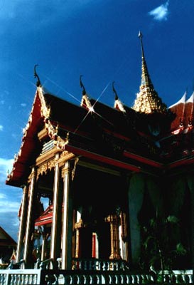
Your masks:
{"label": "deep blue sky with small clouds behind the temple", "polygon": [[5,185],[36,92],[80,104],[87,93],[133,105],[141,81],[139,30],[153,86],[168,106],[194,84],[194,4],[190,0],[0,1],[0,226],[17,239],[20,188]]}

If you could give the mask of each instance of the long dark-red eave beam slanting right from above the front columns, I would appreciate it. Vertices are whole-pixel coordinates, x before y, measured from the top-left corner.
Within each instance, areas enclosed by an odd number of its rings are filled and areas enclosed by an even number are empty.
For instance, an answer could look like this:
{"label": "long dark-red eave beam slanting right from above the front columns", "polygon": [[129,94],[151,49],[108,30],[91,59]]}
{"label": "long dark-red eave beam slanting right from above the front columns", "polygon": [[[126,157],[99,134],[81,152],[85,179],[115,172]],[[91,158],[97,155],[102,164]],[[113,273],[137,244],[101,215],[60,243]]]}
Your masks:
{"label": "long dark-red eave beam slanting right from above the front columns", "polygon": [[97,155],[97,153],[90,152],[87,150],[82,150],[77,147],[72,147],[71,145],[65,145],[65,150],[75,153],[76,155],[83,155],[85,157],[90,158],[91,160],[97,160],[100,162],[107,163],[108,165],[114,165],[116,167],[124,168],[126,170],[131,170],[135,172],[141,171],[141,167],[130,165],[129,163],[121,162],[119,160],[114,160],[113,158],[110,158],[110,157],[104,157],[102,155]]}

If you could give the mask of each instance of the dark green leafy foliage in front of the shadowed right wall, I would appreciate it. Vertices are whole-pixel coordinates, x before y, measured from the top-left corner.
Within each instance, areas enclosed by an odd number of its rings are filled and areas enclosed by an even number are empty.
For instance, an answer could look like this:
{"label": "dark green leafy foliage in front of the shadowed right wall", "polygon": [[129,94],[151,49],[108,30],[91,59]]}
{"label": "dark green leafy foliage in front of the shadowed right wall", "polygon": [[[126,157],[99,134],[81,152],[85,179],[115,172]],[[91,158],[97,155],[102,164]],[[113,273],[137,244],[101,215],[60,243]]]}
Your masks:
{"label": "dark green leafy foliage in front of the shadowed right wall", "polygon": [[156,217],[142,228],[143,243],[141,267],[171,270],[176,257],[186,254],[183,244],[176,242],[178,219]]}

